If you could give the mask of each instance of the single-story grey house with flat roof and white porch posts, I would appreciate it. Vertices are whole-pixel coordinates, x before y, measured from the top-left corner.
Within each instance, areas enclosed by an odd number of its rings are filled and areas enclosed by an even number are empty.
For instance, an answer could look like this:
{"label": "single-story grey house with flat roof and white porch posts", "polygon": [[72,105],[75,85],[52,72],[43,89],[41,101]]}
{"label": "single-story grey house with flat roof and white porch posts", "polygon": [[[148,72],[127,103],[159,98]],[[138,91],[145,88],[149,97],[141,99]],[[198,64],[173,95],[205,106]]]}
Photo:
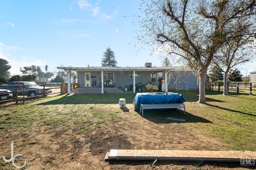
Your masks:
{"label": "single-story grey house with flat roof and white porch posts", "polygon": [[[199,83],[192,70],[182,67],[151,66],[126,67],[57,67],[68,72],[68,93],[71,93],[71,70],[77,73],[79,88],[115,87],[122,90],[140,92],[140,87],[146,84],[157,86],[159,91],[168,92],[168,89],[199,89]],[[135,87],[135,88],[133,88]]]}

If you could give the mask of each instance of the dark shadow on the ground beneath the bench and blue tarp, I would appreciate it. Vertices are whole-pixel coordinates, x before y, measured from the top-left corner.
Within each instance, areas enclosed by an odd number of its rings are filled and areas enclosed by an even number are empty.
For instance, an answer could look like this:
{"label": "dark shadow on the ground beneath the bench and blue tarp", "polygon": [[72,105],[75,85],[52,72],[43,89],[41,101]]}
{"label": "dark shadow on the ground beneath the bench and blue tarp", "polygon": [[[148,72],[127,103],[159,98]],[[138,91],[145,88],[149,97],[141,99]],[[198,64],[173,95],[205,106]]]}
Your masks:
{"label": "dark shadow on the ground beneath the bench and blue tarp", "polygon": [[[139,112],[138,112],[139,113]],[[142,115],[142,113],[139,113]],[[143,114],[145,119],[148,119],[149,121],[152,121],[154,123],[196,123],[196,122],[202,122],[202,123],[212,123],[212,121],[209,121],[207,119],[204,119],[203,117],[198,117],[196,115],[192,115],[188,112],[184,114],[184,111],[178,111],[177,109],[167,109],[167,110],[160,110],[155,109],[152,111],[144,111]],[[167,117],[173,117],[176,119],[184,119],[184,121],[175,121],[175,120],[167,120]]]}

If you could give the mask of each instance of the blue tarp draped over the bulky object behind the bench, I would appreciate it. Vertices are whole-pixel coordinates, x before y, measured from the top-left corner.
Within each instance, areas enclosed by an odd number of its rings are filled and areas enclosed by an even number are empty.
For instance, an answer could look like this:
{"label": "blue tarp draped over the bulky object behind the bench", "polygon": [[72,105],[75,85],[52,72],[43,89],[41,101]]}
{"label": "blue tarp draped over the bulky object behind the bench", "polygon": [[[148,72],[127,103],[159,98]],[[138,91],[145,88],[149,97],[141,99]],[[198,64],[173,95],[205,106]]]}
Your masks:
{"label": "blue tarp draped over the bulky object behind the bench", "polygon": [[178,93],[137,93],[133,102],[140,111],[140,104],[184,103],[186,100]]}

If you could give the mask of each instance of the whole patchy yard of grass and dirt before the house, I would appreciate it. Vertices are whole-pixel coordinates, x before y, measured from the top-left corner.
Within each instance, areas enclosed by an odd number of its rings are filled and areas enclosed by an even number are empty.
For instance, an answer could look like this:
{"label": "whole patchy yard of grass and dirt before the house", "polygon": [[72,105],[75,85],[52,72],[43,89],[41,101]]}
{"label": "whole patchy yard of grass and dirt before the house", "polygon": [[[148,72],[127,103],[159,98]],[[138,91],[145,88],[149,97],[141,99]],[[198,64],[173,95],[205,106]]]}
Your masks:
{"label": "whole patchy yard of grass and dirt before the house", "polygon": [[[240,163],[187,161],[105,161],[110,149],[252,150],[256,151],[256,96],[179,91],[183,111],[134,111],[135,94],[59,95],[25,105],[0,106],[0,169],[242,169]],[[119,98],[126,99],[120,109]],[[186,122],[166,120],[186,119]]]}

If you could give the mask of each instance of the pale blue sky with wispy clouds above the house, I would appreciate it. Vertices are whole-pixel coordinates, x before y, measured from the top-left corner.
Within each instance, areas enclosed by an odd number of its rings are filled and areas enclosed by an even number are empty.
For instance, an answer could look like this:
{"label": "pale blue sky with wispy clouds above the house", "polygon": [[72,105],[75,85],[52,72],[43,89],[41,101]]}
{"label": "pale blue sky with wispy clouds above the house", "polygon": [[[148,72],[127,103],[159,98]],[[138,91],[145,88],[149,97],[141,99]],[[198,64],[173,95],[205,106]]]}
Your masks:
{"label": "pale blue sky with wispy clouds above the house", "polygon": [[[108,47],[117,66],[161,66],[138,42],[140,0],[0,0],[0,58],[12,75],[24,66],[101,66]],[[245,76],[256,62],[240,66]]]}

